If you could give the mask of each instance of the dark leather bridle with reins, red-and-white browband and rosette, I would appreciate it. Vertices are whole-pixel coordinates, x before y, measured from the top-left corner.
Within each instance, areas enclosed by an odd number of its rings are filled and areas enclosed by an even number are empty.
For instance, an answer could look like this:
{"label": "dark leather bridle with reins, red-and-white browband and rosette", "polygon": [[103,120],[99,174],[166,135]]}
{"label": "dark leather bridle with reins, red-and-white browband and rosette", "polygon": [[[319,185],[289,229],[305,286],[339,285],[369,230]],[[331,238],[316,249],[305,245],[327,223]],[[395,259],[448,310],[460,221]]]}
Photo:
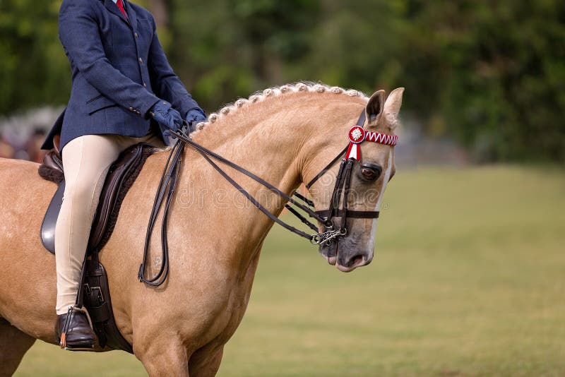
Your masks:
{"label": "dark leather bridle with reins, red-and-white browband and rosette", "polygon": [[[189,135],[184,133],[184,131],[170,131],[170,133],[177,138],[177,143],[174,144],[167,163],[165,164],[165,169],[161,176],[159,185],[157,187],[157,194],[155,196],[155,202],[153,203],[153,209],[151,210],[150,220],[148,224],[147,234],[145,236],[145,248],[143,251],[143,262],[139,268],[138,278],[140,282],[145,282],[145,284],[152,286],[159,286],[167,279],[167,274],[169,271],[169,258],[168,258],[168,242],[167,242],[167,218],[169,213],[169,206],[172,202],[174,188],[177,185],[177,179],[180,174],[181,166],[181,156],[185,145],[189,145],[194,148],[200,155],[218,172],[222,175],[232,186],[237,188],[237,191],[243,194],[258,210],[261,210],[270,220],[273,220],[278,225],[284,227],[292,233],[298,234],[300,237],[308,239],[313,245],[331,245],[334,239],[339,237],[345,237],[347,235],[347,219],[350,218],[362,218],[362,219],[376,219],[379,217],[379,211],[362,211],[362,210],[350,210],[348,208],[347,202],[350,195],[351,187],[351,174],[352,167],[355,161],[359,162],[361,160],[361,149],[359,145],[364,141],[371,141],[374,143],[381,143],[386,145],[394,146],[398,142],[398,136],[385,135],[383,133],[377,133],[372,131],[366,131],[363,128],[365,123],[365,112],[363,111],[357,119],[357,123],[350,129],[349,140],[350,143],[347,147],[342,150],[329,164],[326,165],[316,176],[314,176],[311,181],[306,185],[306,188],[311,188],[312,185],[318,181],[321,176],[326,174],[338,160],[342,159],[340,163],[340,169],[338,171],[338,176],[335,180],[335,185],[333,187],[333,192],[331,196],[330,206],[326,210],[315,210],[314,202],[309,198],[302,196],[300,193],[293,193],[292,196],[288,196],[280,189],[276,188],[272,184],[268,183],[264,179],[256,174],[249,172],[249,170],[240,167],[238,164],[227,160],[225,157],[218,155],[217,153],[203,147],[202,145],[194,142]],[[345,157],[342,156],[345,154]],[[251,196],[251,194],[246,191],[245,188],[240,186],[232,177],[225,172],[215,161],[231,167],[232,169],[249,176],[249,178],[258,182],[259,184],[265,186],[273,193],[283,198],[287,201],[285,208],[290,211],[293,215],[298,217],[298,219],[312,229],[315,234],[309,234],[300,229],[293,227],[287,222],[280,220],[278,217],[270,213],[270,211],[265,208],[259,201]],[[342,200],[343,197],[343,200]],[[155,225],[155,220],[157,218],[157,213],[159,213],[162,207],[163,201],[165,201],[165,207],[162,212],[162,227],[161,227],[161,266],[160,270],[155,274],[154,277],[150,279],[145,278],[145,264],[148,258],[148,250],[150,244],[150,237],[153,232],[153,226]],[[302,203],[301,203],[302,202]],[[340,208],[340,203],[342,206]],[[325,229],[324,232],[319,232],[319,228],[304,215],[299,213],[294,205],[299,210],[304,211],[308,217],[321,222]],[[335,226],[335,217],[340,217],[339,226]]]}

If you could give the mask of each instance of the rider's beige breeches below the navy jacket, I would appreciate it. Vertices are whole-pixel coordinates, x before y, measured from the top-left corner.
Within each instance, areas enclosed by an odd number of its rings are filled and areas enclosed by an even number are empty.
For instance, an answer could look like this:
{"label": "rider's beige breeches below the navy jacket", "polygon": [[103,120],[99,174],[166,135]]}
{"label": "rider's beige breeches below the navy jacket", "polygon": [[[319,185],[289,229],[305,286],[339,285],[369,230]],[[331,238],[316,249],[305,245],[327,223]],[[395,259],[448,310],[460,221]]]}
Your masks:
{"label": "rider's beige breeches below the navy jacket", "polygon": [[75,304],[90,227],[108,169],[122,150],[142,141],[164,146],[149,133],[143,138],[86,135],[63,148],[65,192],[55,228],[57,314],[66,313]]}

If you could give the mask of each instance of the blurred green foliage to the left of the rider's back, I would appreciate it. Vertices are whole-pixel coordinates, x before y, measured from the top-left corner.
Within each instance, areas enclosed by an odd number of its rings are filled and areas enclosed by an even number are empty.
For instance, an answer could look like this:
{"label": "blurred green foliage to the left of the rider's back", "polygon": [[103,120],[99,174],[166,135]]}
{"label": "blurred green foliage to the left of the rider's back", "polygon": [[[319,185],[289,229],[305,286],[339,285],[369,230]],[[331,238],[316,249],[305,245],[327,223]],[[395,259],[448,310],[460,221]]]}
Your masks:
{"label": "blurred green foliage to the left of the rider's back", "polygon": [[69,62],[57,37],[60,1],[0,1],[0,114],[69,97]]}

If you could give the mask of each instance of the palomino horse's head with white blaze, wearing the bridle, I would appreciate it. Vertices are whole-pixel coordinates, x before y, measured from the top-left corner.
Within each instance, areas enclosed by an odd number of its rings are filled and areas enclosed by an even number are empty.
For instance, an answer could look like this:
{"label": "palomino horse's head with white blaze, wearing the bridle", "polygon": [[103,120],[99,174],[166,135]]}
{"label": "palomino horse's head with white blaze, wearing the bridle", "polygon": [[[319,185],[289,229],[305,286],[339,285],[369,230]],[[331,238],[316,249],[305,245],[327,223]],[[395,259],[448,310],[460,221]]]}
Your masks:
{"label": "palomino horse's head with white blaze, wearing the bridle", "polygon": [[[382,137],[382,140],[393,139],[396,143],[396,138],[393,136],[398,124],[398,112],[402,104],[403,91],[404,88],[393,90],[386,101],[383,90],[375,92],[364,109],[365,120],[359,125],[362,126],[362,129],[351,128],[350,133],[357,138],[359,138],[358,134],[362,133],[363,140],[366,141],[370,136],[373,139],[378,137]],[[363,120],[363,116],[359,119]],[[340,127],[342,140],[344,140],[343,126],[336,125],[336,127]],[[355,141],[351,136],[350,140],[352,143]],[[338,168],[338,164],[335,164],[311,188],[316,208],[332,208],[332,203],[335,203],[333,205],[334,215],[329,215],[331,219],[326,223],[320,222],[320,233],[323,234],[323,232],[328,232],[328,229],[337,228],[342,234],[330,241],[321,242],[319,252],[328,263],[335,265],[340,271],[350,272],[357,267],[371,263],[373,259],[377,215],[371,214],[378,214],[386,185],[395,173],[394,146],[387,144],[393,143],[376,141],[357,144],[360,152],[357,156],[352,156],[357,158],[350,158],[349,177],[344,177],[345,172],[342,172],[344,168]],[[346,155],[342,165],[347,162],[348,157],[350,156]],[[327,155],[319,153],[314,158],[327,160]],[[339,183],[336,184],[336,181],[340,180],[340,174],[341,179],[345,179],[345,183],[341,183],[343,188],[338,188]],[[348,188],[347,181],[349,181]],[[338,189],[341,192],[336,196]],[[347,208],[349,212],[338,212],[343,208]],[[356,213],[364,213],[364,216],[356,216]]]}

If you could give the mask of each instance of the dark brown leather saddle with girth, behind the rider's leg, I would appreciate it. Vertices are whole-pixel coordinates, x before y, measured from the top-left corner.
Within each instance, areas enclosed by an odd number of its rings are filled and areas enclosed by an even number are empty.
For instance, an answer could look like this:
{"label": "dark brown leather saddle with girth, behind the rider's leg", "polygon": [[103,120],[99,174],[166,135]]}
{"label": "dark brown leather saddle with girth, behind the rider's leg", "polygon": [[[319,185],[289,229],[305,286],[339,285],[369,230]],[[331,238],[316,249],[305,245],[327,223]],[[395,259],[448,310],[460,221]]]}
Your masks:
{"label": "dark brown leather saddle with girth, behind the rider's leg", "polygon": [[[141,172],[145,160],[153,152],[155,152],[155,148],[148,143],[133,145],[124,150],[109,168],[90,231],[87,258],[85,268],[83,268],[83,282],[80,289],[83,295],[79,297],[83,300],[83,304],[90,314],[100,347],[122,349],[131,354],[133,354],[131,345],[119,333],[114,321],[107,274],[104,266],[100,263],[98,253],[112,235],[121,202]],[[41,226],[43,246],[51,253],[55,253],[55,225],[65,190],[63,164],[57,150],[47,152],[38,173],[43,179],[59,185],[51,203],[49,203]]]}

